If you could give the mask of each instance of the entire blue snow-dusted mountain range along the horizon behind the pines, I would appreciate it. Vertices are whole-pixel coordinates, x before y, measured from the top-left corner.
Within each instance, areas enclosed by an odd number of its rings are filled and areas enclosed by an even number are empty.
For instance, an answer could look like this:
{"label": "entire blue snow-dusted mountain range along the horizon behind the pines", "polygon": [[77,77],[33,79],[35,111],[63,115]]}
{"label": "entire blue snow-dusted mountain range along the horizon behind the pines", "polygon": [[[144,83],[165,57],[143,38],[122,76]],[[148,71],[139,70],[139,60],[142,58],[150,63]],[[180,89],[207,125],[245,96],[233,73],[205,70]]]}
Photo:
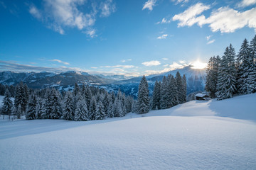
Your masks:
{"label": "entire blue snow-dusted mountain range along the horizon behind the pines", "polygon": [[[176,75],[180,72],[181,76],[186,75],[188,94],[194,91],[202,91],[206,81],[206,69],[193,69],[192,66],[175,69],[161,74],[151,74],[146,76],[149,84],[149,94],[152,94],[154,82],[161,81],[168,74]],[[87,72],[68,71],[62,73],[53,72],[0,72],[0,84],[14,85],[20,81],[26,83],[28,87],[43,89],[55,87],[59,91],[72,90],[75,83],[98,86],[107,91],[118,91],[119,89],[127,95],[137,97],[139,82],[142,77],[124,77],[122,75],[105,76],[103,74],[88,74]]]}

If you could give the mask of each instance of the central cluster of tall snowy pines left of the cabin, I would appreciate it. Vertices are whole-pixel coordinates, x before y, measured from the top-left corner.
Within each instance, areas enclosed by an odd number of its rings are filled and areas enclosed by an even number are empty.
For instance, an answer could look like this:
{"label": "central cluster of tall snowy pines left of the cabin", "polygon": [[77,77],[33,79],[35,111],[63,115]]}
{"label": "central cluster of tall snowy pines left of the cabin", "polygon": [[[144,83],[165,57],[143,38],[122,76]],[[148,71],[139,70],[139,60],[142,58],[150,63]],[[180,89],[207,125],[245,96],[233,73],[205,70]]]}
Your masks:
{"label": "central cluster of tall snowy pines left of the cabin", "polygon": [[153,96],[149,98],[149,86],[146,77],[139,84],[137,113],[148,113],[149,110],[166,109],[186,102],[186,76],[179,72],[176,77],[169,74],[162,81],[154,84]]}

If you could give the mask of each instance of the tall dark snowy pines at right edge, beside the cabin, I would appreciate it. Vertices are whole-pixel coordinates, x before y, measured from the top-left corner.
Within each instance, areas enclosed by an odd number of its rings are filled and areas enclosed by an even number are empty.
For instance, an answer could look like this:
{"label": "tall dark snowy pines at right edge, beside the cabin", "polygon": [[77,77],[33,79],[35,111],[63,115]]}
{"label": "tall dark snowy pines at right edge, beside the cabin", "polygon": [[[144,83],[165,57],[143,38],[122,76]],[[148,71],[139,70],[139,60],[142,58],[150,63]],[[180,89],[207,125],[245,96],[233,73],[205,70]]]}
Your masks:
{"label": "tall dark snowy pines at right edge, beside the cabin", "polygon": [[210,97],[223,100],[234,94],[256,92],[256,35],[243,40],[238,55],[230,44],[220,58],[210,57],[206,70],[206,91]]}

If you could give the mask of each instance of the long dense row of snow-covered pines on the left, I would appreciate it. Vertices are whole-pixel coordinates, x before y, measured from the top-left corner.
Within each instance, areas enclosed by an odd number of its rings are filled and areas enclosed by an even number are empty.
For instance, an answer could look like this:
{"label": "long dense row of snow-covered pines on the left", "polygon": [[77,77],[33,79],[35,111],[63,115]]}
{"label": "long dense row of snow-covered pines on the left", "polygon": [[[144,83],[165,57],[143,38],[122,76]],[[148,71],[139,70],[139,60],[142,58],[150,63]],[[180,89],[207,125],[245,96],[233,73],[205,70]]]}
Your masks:
{"label": "long dense row of snow-covered pines on the left", "polygon": [[106,117],[122,117],[135,111],[135,101],[120,90],[117,94],[98,89],[94,86],[81,87],[75,84],[73,91],[60,94],[54,88],[29,89],[21,82],[15,88],[14,102],[9,89],[6,89],[2,114],[15,115],[27,120],[64,119],[64,120],[102,120]]}

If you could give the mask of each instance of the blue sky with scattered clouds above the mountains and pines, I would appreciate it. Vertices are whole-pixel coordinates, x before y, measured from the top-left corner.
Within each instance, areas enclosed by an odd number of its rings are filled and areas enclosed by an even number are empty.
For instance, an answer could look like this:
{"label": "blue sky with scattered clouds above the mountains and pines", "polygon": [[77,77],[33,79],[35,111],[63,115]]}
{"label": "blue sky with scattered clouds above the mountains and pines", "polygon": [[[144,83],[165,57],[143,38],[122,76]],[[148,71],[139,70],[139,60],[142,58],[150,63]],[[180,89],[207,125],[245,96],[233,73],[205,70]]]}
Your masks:
{"label": "blue sky with scattered clouds above the mountains and pines", "polygon": [[0,0],[0,70],[139,76],[256,33],[256,0]]}

